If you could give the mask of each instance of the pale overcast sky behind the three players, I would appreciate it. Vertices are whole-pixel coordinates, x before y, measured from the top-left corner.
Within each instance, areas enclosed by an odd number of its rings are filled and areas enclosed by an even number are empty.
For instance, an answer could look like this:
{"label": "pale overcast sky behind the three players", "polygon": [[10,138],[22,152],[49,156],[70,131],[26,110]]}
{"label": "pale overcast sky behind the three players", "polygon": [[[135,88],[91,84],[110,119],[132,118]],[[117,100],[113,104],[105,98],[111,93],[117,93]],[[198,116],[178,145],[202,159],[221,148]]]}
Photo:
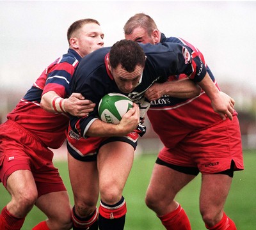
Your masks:
{"label": "pale overcast sky behind the three players", "polygon": [[0,1],[0,89],[26,92],[67,52],[67,28],[99,20],[105,46],[124,38],[125,22],[144,12],[166,36],[193,43],[221,82],[256,88],[256,1]]}

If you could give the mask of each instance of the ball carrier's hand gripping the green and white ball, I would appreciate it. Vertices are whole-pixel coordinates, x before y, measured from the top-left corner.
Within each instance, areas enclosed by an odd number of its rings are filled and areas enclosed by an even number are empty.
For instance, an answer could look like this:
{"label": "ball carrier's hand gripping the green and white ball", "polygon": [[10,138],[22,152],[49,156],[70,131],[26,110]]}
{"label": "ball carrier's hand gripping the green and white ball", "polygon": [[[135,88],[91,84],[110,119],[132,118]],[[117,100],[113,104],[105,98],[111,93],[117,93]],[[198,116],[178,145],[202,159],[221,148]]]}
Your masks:
{"label": "ball carrier's hand gripping the green and white ball", "polygon": [[121,129],[124,135],[134,132],[140,123],[140,108],[135,103],[133,104],[132,109],[124,114],[120,123],[117,125]]}

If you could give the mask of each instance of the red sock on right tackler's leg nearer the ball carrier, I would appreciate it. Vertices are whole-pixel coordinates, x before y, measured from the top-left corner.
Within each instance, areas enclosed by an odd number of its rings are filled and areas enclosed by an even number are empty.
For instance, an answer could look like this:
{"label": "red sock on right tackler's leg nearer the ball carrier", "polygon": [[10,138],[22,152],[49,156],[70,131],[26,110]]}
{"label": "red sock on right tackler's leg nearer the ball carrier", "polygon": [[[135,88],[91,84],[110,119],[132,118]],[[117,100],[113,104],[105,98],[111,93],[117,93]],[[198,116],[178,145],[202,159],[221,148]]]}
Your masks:
{"label": "red sock on right tackler's leg nearer the ball carrier", "polygon": [[191,230],[188,216],[180,204],[176,210],[158,217],[167,230]]}

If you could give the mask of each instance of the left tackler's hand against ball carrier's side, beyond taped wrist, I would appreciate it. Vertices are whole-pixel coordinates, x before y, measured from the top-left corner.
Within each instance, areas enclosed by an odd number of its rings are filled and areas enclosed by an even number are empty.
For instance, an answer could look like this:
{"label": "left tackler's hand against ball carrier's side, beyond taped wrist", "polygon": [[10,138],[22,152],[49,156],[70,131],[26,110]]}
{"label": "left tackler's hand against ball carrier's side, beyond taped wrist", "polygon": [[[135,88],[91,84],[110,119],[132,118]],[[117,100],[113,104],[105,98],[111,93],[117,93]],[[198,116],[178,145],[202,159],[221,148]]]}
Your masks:
{"label": "left tackler's hand against ball carrier's side, beyond taped wrist", "polygon": [[86,100],[81,93],[72,93],[69,98],[65,99],[64,106],[65,111],[72,116],[84,117],[93,111],[95,103]]}

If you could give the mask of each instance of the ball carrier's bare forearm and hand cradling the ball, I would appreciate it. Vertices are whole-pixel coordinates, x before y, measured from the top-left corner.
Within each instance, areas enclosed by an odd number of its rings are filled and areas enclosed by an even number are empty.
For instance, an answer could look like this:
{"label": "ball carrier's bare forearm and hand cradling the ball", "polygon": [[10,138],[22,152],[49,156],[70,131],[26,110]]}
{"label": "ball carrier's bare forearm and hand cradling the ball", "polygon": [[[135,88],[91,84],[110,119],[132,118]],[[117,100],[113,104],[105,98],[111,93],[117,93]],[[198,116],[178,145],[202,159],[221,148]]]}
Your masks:
{"label": "ball carrier's bare forearm and hand cradling the ball", "polygon": [[140,122],[140,109],[136,104],[133,104],[133,106],[132,109],[124,114],[118,125],[95,119],[85,135],[91,137],[113,137],[124,136],[133,132]]}

